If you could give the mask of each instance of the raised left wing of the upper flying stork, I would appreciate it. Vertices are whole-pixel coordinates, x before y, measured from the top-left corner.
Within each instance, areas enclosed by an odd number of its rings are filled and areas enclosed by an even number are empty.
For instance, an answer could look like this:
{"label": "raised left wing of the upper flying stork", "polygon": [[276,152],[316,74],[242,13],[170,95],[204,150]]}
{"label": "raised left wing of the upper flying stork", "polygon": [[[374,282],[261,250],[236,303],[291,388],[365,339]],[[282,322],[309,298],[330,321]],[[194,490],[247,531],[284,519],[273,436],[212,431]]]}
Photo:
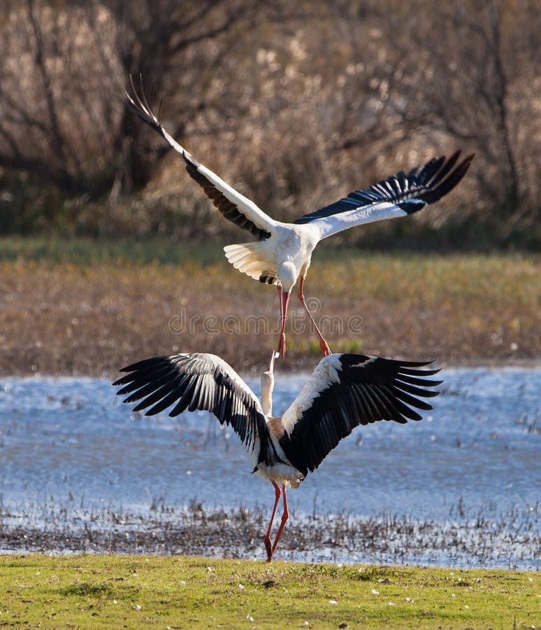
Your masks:
{"label": "raised left wing of the upper flying stork", "polygon": [[265,214],[254,202],[238,193],[232,186],[229,186],[217,174],[200,164],[183,146],[178,144],[161,125],[159,116],[152,109],[152,104],[148,104],[143,92],[143,80],[140,80],[140,95],[134,86],[131,76],[129,80],[133,96],[126,92],[126,98],[131,106],[131,110],[147,125],[150,125],[154,131],[158,132],[161,137],[166,139],[175,151],[182,155],[186,162],[187,172],[199,183],[205,195],[212,200],[212,203],[222,215],[232,223],[235,223],[235,225],[238,225],[239,228],[244,228],[254,236],[257,236],[260,240],[270,237],[271,231],[277,225],[273,218]]}

